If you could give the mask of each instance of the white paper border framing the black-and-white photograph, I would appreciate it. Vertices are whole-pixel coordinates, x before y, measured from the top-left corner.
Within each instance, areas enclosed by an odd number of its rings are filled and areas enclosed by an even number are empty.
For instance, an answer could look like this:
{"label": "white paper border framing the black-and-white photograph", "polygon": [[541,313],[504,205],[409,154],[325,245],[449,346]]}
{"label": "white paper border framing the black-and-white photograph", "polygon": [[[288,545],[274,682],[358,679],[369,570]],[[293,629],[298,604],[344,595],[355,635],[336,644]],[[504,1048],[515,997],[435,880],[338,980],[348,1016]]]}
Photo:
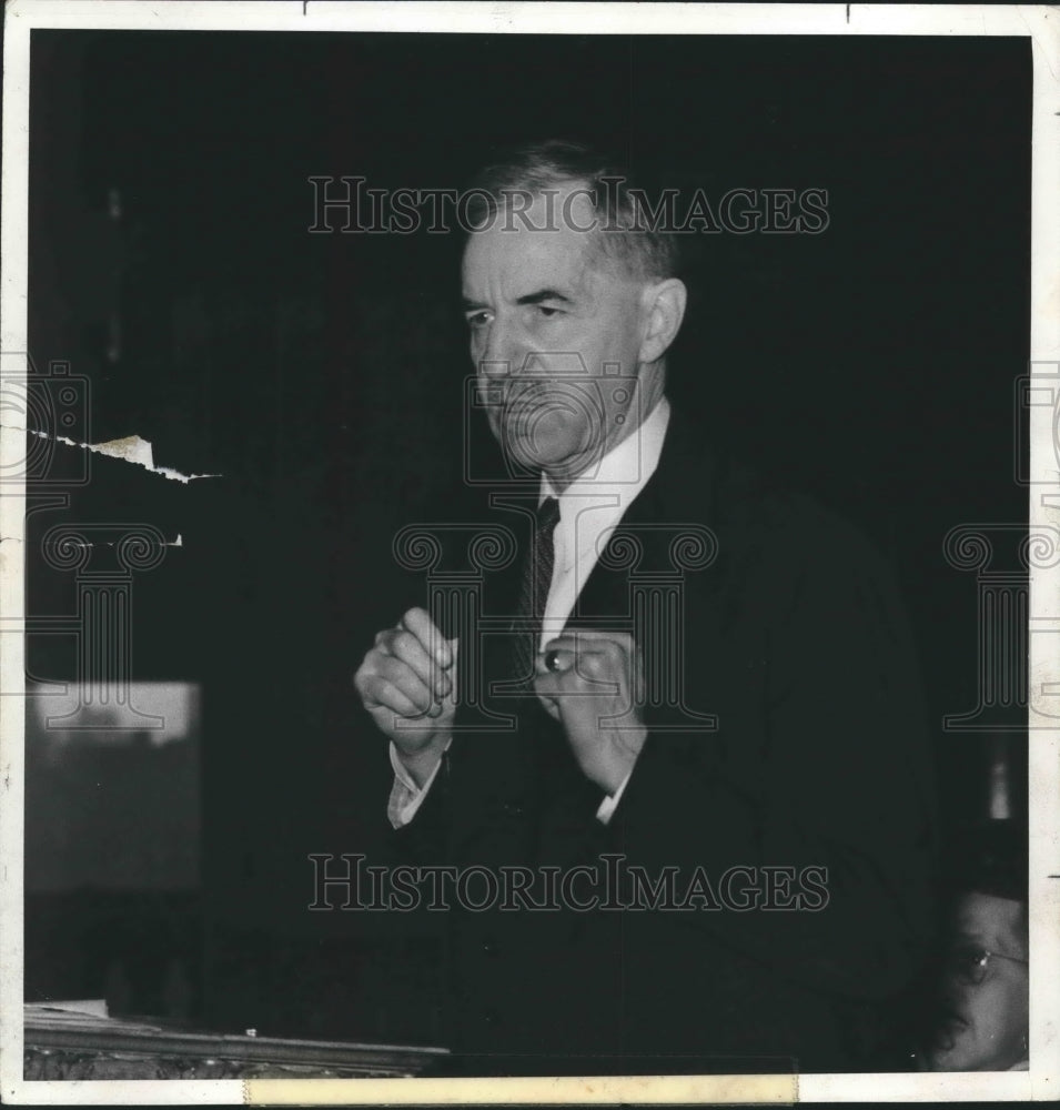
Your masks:
{"label": "white paper border framing the black-and-white photograph", "polygon": [[[1044,6],[316,3],[13,0],[3,43],[0,355],[26,352],[30,31],[387,31],[492,34],[1013,36],[1033,56],[1031,367],[1060,366],[1060,10]],[[7,360],[0,360],[7,365]],[[1051,367],[1051,370],[1049,370]],[[2,366],[0,366],[2,370]],[[2,384],[2,383],[0,383]],[[1060,398],[1057,400],[1060,406]],[[1053,410],[1030,408],[1030,526],[1060,525]],[[10,422],[10,423],[9,423]],[[24,453],[4,413],[0,464]],[[1044,492],[1043,492],[1044,491]],[[1050,496],[1051,494],[1051,496]],[[1046,1100],[1060,1093],[1060,567],[1032,567],[1029,716],[1030,1070],[1005,1073],[481,1080],[26,1082],[22,1079],[24,491],[0,497],[0,1098],[47,1103],[676,1103]],[[13,633],[13,635],[12,635]],[[1052,985],[1052,986],[1050,986]]]}

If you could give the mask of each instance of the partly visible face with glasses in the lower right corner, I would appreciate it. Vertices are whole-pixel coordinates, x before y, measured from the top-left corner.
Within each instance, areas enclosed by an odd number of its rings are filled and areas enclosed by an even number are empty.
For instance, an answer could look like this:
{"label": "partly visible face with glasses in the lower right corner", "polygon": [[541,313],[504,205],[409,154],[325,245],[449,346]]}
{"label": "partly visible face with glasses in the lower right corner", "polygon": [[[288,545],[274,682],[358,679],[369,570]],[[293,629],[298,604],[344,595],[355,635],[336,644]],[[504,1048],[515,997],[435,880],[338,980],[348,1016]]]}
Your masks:
{"label": "partly visible face with glasses in the lower right corner", "polygon": [[[957,912],[958,950],[987,949],[1027,959],[1027,914],[1022,902],[991,895],[966,895]],[[928,1053],[932,1071],[1003,1071],[1027,1057],[1028,968],[991,956],[981,983],[952,977],[945,985],[950,1020]]]}

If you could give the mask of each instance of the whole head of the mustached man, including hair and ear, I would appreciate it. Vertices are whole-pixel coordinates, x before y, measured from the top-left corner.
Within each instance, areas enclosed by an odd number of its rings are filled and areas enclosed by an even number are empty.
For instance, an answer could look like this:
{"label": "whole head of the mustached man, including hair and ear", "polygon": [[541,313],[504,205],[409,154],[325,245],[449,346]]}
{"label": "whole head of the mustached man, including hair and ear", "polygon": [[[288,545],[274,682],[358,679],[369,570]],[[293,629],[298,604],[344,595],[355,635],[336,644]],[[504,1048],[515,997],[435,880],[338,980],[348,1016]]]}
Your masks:
{"label": "whole head of the mustached man, including hair and ear", "polygon": [[463,300],[489,427],[563,488],[663,395],[687,295],[674,236],[620,167],[576,143],[521,148],[465,195]]}

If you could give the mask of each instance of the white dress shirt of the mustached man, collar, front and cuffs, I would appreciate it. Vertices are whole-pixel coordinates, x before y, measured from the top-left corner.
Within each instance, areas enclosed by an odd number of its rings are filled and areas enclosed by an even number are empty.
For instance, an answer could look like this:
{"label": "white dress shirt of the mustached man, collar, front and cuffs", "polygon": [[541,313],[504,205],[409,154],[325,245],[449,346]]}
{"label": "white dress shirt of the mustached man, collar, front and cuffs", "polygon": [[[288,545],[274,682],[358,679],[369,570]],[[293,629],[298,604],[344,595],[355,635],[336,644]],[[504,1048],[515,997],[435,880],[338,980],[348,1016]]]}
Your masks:
{"label": "white dress shirt of the mustached man, collar, front and cuffs", "polygon": [[[669,402],[662,397],[647,420],[613,447],[593,468],[593,473],[585,472],[561,494],[542,475],[538,505],[548,497],[556,497],[559,502],[559,523],[553,535],[555,563],[542,619],[538,650],[544,650],[545,645],[563,632],[582,588],[596,566],[599,553],[607,545],[626,509],[655,473],[669,414]],[[413,819],[423,804],[437,776],[441,760],[420,788],[403,766],[393,743],[390,758],[394,768],[394,786],[386,813],[391,825],[401,828]],[[606,796],[600,803],[596,816],[604,824],[610,820],[628,781],[629,775],[613,795]]]}

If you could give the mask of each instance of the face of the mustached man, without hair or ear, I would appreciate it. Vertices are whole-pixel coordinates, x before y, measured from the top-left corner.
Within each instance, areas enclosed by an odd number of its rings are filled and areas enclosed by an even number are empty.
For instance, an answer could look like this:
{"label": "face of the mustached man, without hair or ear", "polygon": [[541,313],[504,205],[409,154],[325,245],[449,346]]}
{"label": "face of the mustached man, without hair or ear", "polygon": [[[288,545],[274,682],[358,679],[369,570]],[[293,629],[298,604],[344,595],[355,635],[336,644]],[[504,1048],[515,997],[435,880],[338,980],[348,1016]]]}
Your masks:
{"label": "face of the mustached man, without hair or ear", "polygon": [[[464,252],[471,355],[505,454],[549,476],[590,467],[647,415],[655,369],[638,374],[644,283],[594,250],[589,199],[537,196],[524,225],[502,210]],[[575,224],[576,226],[572,226]],[[547,230],[536,230],[545,229]]]}

